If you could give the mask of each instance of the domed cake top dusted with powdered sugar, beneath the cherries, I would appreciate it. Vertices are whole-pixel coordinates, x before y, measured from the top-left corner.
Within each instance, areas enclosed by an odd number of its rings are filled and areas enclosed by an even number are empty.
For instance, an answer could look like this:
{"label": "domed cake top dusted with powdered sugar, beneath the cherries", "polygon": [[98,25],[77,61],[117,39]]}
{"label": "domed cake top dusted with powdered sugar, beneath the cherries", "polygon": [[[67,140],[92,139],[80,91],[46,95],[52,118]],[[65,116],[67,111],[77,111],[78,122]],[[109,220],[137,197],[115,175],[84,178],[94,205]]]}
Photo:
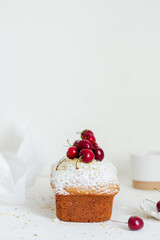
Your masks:
{"label": "domed cake top dusted with powdered sugar, beneath the cherries", "polygon": [[115,166],[108,160],[78,162],[66,158],[58,169],[52,167],[51,184],[55,194],[70,194],[70,189],[76,193],[116,194],[119,191],[119,181]]}

